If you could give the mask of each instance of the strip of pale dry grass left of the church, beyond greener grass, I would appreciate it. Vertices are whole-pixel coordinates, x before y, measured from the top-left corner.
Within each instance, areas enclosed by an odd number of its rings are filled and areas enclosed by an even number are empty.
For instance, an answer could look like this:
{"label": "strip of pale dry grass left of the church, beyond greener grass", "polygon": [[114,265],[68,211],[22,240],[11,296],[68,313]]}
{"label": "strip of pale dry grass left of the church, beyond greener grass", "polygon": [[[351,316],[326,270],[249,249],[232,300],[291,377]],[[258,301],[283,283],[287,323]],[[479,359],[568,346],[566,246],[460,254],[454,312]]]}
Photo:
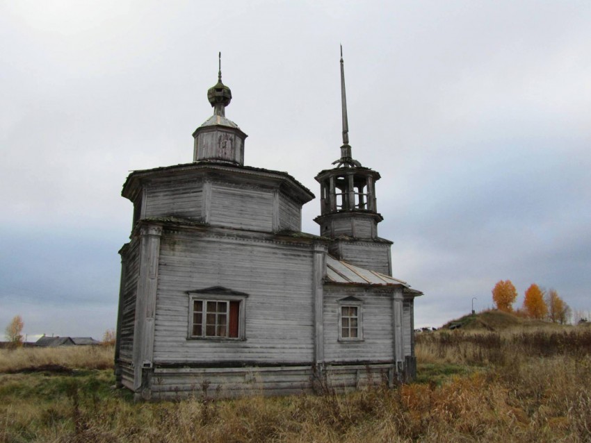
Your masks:
{"label": "strip of pale dry grass left of the church, beyond greener grass", "polygon": [[60,365],[68,369],[113,368],[114,346],[0,349],[0,374]]}

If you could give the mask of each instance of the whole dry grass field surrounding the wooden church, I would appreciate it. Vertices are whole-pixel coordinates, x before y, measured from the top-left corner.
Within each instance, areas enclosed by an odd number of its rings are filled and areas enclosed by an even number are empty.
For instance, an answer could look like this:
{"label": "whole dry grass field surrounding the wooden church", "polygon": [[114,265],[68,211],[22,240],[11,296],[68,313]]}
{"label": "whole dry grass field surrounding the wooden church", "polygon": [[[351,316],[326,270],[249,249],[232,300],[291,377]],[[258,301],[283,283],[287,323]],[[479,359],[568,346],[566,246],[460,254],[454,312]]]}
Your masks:
{"label": "whole dry grass field surrounding the wooden church", "polygon": [[419,334],[394,389],[227,401],[133,403],[112,348],[2,350],[0,442],[591,442],[591,328],[494,328]]}

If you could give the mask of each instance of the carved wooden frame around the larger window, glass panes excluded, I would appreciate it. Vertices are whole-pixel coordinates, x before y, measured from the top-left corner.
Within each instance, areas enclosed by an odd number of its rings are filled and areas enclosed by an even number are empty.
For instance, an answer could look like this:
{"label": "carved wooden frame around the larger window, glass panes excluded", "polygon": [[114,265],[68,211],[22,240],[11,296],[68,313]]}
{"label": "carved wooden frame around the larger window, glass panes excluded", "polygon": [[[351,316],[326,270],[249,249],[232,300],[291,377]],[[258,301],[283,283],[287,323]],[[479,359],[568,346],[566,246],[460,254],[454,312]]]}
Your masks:
{"label": "carved wooden frame around the larger window, glass panes excluded", "polygon": [[[224,287],[211,287],[204,290],[186,291],[186,294],[188,294],[187,340],[206,340],[208,342],[239,342],[246,340],[246,299],[248,298],[248,294],[227,290]],[[238,301],[238,337],[206,337],[205,335],[193,335],[193,305],[195,301],[222,301],[225,303]],[[205,315],[207,315],[207,313]],[[205,318],[203,321],[205,321]],[[229,330],[229,318],[227,321],[227,328]],[[203,328],[205,328],[205,324]]]}

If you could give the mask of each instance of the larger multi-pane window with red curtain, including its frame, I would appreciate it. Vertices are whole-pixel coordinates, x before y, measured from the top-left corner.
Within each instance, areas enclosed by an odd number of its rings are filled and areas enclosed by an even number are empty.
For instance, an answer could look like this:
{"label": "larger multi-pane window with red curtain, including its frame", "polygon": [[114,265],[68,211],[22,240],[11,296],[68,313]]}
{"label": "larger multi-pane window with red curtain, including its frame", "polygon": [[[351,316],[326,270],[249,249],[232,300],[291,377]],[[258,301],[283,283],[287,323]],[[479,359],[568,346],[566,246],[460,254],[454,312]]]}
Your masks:
{"label": "larger multi-pane window with red curtain, including its frame", "polygon": [[217,287],[206,291],[189,293],[188,337],[243,339],[247,294]]}

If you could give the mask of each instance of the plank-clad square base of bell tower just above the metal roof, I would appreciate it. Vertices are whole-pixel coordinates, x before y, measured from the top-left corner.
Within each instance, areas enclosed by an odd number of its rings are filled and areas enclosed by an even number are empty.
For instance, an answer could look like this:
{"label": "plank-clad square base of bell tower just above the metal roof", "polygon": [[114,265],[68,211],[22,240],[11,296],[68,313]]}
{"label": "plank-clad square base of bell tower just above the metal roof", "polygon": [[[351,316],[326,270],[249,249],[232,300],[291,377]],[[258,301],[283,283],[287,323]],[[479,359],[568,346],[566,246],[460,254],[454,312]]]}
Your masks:
{"label": "plank-clad square base of bell tower just above the metal roof", "polygon": [[363,241],[337,241],[329,246],[332,256],[365,269],[391,275],[390,246]]}

